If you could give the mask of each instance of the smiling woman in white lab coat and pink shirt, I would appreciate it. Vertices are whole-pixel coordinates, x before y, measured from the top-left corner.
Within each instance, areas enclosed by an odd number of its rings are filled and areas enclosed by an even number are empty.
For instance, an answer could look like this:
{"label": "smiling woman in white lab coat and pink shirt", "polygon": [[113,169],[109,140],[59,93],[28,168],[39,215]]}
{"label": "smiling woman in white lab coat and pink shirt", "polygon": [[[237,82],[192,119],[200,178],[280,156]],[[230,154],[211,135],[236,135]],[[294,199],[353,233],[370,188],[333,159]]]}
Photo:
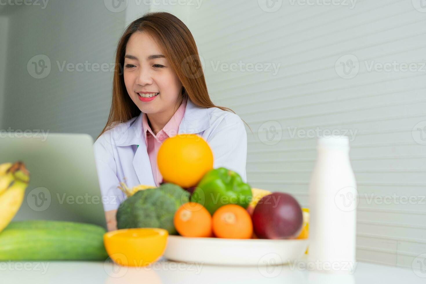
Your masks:
{"label": "smiling woman in white lab coat and pink shirt", "polygon": [[[177,17],[151,12],[132,22],[116,50],[112,105],[95,144],[108,230],[125,195],[120,182],[158,186],[156,155],[178,133],[209,143],[213,167],[246,181],[247,133],[238,115],[209,98],[192,34]],[[230,111],[228,111],[230,110]]]}

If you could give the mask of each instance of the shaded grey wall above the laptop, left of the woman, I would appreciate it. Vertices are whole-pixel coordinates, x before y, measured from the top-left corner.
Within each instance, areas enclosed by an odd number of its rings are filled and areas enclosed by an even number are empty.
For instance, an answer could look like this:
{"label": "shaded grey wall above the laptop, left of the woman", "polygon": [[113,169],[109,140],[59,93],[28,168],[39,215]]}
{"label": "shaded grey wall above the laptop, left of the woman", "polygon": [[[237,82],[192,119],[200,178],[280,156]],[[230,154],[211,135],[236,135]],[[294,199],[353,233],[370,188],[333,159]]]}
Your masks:
{"label": "shaded grey wall above the laptop, left of the woman", "polygon": [[[125,12],[110,11],[104,1],[85,0],[49,1],[44,9],[12,8],[3,10],[9,19],[8,60],[1,65],[7,70],[3,128],[96,138],[107,122],[111,67]],[[40,59],[50,66],[50,71],[43,69],[43,78],[37,78],[33,65],[42,63]]]}

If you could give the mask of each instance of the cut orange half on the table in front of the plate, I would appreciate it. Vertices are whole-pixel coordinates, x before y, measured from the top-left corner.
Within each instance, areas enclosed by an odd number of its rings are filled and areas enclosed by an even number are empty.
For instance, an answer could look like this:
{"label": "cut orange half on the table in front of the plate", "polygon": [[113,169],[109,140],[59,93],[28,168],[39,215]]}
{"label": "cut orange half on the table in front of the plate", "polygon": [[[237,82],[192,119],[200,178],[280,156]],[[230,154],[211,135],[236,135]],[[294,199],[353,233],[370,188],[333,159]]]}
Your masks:
{"label": "cut orange half on the table in front of the plate", "polygon": [[121,229],[107,232],[104,245],[115,263],[140,268],[163,255],[168,235],[165,229],[158,228]]}

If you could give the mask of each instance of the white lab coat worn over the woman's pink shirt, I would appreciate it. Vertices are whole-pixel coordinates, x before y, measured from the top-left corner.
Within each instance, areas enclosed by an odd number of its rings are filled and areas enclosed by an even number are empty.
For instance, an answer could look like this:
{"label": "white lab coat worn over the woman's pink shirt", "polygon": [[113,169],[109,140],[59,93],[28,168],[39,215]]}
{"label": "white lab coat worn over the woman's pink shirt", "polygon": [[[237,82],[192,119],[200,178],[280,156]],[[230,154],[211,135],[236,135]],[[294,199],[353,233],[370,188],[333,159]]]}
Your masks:
{"label": "white lab coat worn over the woman's pink shirt", "polygon": [[[139,184],[155,186],[142,114],[104,132],[93,145],[105,211],[117,209],[126,198],[118,189],[120,182],[129,188]],[[188,99],[178,133],[200,135],[212,149],[213,168],[231,169],[247,182],[247,133],[238,115],[216,107],[200,108]]]}

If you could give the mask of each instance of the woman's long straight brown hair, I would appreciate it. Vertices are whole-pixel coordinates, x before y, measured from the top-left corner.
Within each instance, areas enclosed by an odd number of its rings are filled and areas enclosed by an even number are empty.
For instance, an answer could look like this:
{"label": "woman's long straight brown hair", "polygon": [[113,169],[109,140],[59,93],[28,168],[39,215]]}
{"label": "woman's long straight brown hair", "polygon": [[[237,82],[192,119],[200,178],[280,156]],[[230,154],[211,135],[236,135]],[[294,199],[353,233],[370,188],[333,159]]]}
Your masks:
{"label": "woman's long straight brown hair", "polygon": [[107,125],[99,136],[114,127],[116,123],[126,122],[141,113],[141,110],[127,94],[123,74],[126,45],[130,36],[135,32],[146,32],[157,41],[159,46],[163,47],[164,56],[181,81],[183,99],[191,100],[196,106],[217,107],[235,113],[227,107],[214,105],[210,100],[198,49],[187,26],[173,14],[148,12],[130,23],[118,41],[112,82],[111,109]]}

